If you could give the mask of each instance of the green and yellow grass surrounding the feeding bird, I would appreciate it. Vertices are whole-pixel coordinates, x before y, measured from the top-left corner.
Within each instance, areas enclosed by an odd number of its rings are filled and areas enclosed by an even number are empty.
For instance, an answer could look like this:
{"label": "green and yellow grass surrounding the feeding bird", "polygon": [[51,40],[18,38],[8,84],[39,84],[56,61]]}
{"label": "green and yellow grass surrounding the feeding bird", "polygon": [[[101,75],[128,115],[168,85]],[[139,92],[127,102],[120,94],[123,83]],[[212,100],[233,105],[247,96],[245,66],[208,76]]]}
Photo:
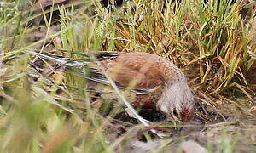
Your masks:
{"label": "green and yellow grass surrounding the feeding bird", "polygon": [[[209,152],[256,150],[255,91],[245,75],[255,61],[252,54],[256,54],[250,43],[253,15],[244,21],[243,3],[135,0],[109,11],[88,0],[69,3],[65,5],[68,8],[55,5],[43,13],[22,10],[30,5],[19,0],[0,3],[1,151],[114,152],[127,150],[132,142],[139,141],[147,142],[146,149],[160,152],[177,150],[186,139],[199,139],[196,141]],[[51,20],[54,10],[60,11],[57,20]],[[38,25],[38,16],[43,25]],[[60,31],[55,31],[53,24]],[[35,36],[42,29],[44,37],[37,40]],[[144,127],[114,118],[124,111],[122,105],[104,116],[102,110],[108,110],[113,101],[109,94],[94,100],[97,95],[86,90],[88,82],[55,70],[47,61],[39,63],[44,68],[38,73],[29,65],[36,59],[24,54],[27,48],[158,54],[184,71],[198,99],[197,116],[210,122],[187,127],[164,122]],[[78,54],[63,55],[79,58]],[[222,119],[216,119],[219,116]],[[177,133],[170,128],[179,126],[189,132]],[[155,139],[150,132],[153,128],[168,136]],[[204,133],[203,138],[198,138],[200,133]]]}

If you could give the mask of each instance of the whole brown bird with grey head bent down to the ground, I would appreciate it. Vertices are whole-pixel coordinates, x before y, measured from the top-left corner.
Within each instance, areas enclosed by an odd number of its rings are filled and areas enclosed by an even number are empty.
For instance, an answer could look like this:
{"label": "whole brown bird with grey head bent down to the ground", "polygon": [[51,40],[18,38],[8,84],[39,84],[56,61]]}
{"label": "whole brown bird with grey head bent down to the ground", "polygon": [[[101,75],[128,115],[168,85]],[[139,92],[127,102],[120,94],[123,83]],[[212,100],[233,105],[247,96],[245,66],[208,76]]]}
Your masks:
{"label": "whole brown bird with grey head bent down to the ground", "polygon": [[[187,78],[170,60],[144,52],[88,51],[74,52],[85,58],[74,59],[36,51],[40,58],[49,59],[92,82],[109,85],[106,74],[118,88],[130,89],[136,96],[131,105],[155,109],[172,121],[189,122],[195,114],[195,99]],[[89,71],[82,71],[88,68]]]}

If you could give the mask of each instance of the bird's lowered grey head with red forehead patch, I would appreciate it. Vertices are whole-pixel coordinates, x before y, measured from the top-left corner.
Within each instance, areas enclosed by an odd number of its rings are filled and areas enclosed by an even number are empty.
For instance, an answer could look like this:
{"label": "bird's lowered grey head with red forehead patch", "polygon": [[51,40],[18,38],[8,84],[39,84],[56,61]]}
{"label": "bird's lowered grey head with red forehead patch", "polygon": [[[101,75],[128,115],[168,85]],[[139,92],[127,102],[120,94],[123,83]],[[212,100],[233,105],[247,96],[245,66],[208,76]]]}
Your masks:
{"label": "bird's lowered grey head with red forehead patch", "polygon": [[194,105],[193,94],[183,80],[167,82],[156,107],[174,121],[189,122],[194,116]]}

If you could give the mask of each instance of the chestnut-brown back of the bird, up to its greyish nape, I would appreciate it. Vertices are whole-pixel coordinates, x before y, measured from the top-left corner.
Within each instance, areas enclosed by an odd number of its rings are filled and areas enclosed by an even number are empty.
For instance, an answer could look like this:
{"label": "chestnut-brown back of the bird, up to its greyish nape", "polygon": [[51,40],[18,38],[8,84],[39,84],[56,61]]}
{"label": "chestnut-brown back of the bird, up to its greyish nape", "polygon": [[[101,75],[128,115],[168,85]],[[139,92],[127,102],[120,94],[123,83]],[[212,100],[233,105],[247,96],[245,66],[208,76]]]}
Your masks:
{"label": "chestnut-brown back of the bird, up to its greyish nape", "polygon": [[164,86],[167,80],[183,77],[171,61],[143,52],[122,52],[115,59],[102,60],[101,64],[115,82],[134,89]]}

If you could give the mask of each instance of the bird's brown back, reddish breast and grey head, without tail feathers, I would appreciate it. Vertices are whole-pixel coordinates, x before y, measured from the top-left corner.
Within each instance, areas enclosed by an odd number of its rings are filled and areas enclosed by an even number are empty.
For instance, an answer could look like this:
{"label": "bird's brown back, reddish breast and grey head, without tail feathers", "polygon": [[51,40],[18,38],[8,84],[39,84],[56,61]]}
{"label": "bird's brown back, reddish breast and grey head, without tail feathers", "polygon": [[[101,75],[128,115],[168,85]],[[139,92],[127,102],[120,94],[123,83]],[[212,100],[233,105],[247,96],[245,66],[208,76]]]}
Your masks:
{"label": "bird's brown back, reddish breast and grey head, without tail feathers", "polygon": [[119,52],[115,59],[102,60],[101,64],[121,86],[153,90],[147,95],[137,94],[133,105],[156,108],[173,119],[189,121],[192,117],[194,99],[187,80],[169,60],[143,52]]}

